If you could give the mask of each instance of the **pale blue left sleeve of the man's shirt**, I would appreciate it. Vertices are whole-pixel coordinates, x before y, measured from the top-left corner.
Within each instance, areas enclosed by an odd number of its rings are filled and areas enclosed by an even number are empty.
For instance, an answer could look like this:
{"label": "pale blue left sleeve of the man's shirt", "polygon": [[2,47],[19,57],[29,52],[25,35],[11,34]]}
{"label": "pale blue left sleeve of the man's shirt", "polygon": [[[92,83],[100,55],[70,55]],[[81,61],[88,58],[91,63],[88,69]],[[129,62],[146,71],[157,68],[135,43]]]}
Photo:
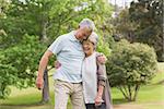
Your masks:
{"label": "pale blue left sleeve of the man's shirt", "polygon": [[58,55],[63,47],[63,37],[59,36],[48,48],[54,55]]}

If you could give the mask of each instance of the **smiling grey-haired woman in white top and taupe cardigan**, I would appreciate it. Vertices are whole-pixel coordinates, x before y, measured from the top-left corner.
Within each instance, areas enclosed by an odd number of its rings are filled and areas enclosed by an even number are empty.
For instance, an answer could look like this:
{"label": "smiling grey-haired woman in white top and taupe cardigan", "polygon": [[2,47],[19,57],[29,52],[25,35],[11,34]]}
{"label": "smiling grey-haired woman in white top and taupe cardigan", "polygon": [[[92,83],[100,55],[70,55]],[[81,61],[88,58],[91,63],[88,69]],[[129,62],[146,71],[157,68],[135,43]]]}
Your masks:
{"label": "smiling grey-haired woman in white top and taupe cardigan", "polygon": [[98,36],[94,32],[83,40],[85,59],[82,65],[83,94],[86,109],[113,109],[105,64],[97,61],[95,51]]}

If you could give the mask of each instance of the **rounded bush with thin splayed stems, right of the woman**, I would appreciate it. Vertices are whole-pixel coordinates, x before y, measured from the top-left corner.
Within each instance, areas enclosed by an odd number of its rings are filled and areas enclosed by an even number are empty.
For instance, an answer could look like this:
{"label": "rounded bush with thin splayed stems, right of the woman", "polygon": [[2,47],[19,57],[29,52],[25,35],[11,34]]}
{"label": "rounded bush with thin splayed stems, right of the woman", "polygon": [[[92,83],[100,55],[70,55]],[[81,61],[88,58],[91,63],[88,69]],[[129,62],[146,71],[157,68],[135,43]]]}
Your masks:
{"label": "rounded bush with thin splayed stems, right of the woman", "polygon": [[140,86],[150,82],[156,69],[153,48],[127,40],[115,45],[107,62],[110,85],[119,88],[128,100],[136,100]]}

